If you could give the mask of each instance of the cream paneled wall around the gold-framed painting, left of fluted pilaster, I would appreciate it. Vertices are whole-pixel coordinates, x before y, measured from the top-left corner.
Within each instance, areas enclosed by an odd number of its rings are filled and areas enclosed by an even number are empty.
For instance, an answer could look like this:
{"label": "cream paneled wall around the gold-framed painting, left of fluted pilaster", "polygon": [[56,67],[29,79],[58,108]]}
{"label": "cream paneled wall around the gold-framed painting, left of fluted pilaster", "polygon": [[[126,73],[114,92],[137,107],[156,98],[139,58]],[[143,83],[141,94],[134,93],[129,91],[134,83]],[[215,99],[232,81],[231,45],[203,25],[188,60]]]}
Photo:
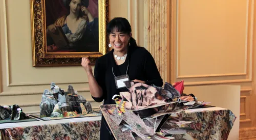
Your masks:
{"label": "cream paneled wall around the gold-framed painting, left of fluted pilaster", "polygon": [[[110,0],[110,4],[110,18],[129,19],[133,36],[143,46],[143,1]],[[0,33],[1,105],[18,104],[26,113],[38,112],[41,94],[50,89],[52,81],[64,90],[73,85],[93,107],[99,105],[90,96],[87,75],[81,67],[32,67],[30,1],[0,1]]]}

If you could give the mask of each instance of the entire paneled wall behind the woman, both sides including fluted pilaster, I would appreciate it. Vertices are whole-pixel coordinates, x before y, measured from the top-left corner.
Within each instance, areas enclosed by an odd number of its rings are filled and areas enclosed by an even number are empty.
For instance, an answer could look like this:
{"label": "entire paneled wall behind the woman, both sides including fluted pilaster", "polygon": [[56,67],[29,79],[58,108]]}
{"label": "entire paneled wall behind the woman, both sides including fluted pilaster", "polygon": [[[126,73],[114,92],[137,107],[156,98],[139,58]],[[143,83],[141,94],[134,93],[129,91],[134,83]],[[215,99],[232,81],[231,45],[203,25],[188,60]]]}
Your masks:
{"label": "entire paneled wall behind the woman, both sides including fluted pilaster", "polygon": [[[110,17],[129,19],[133,37],[154,54],[167,81],[184,80],[186,87],[240,85],[240,137],[256,135],[254,0],[176,2],[110,0]],[[165,11],[170,15],[159,21]],[[52,81],[65,90],[72,84],[92,101],[81,67],[33,68],[31,47],[30,1],[0,1],[1,105],[16,103],[27,113],[38,112]]]}

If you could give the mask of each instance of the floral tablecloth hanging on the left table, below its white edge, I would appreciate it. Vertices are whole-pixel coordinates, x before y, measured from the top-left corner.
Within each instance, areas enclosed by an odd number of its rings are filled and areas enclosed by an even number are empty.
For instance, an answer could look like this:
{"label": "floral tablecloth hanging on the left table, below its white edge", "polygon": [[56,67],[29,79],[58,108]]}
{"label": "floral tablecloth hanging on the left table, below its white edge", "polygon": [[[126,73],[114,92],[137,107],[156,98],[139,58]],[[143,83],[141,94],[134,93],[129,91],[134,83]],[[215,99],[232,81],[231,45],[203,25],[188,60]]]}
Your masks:
{"label": "floral tablecloth hanging on the left table, below its white edge", "polygon": [[99,139],[100,121],[0,129],[0,139]]}

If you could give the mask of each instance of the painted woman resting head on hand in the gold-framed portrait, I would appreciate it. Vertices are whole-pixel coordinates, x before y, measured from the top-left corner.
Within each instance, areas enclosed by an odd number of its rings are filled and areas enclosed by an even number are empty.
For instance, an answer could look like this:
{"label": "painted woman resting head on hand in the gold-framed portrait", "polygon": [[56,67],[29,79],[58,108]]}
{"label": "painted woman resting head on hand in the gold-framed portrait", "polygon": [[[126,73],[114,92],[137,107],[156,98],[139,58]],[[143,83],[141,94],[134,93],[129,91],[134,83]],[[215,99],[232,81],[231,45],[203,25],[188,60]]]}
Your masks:
{"label": "painted woman resting head on hand in the gold-framed portrait", "polygon": [[[88,0],[67,0],[69,13],[47,27],[47,34],[56,33],[57,26],[66,35],[69,46],[58,47],[52,38],[47,39],[48,51],[98,51],[98,19],[86,8]],[[51,32],[51,33],[50,33]]]}

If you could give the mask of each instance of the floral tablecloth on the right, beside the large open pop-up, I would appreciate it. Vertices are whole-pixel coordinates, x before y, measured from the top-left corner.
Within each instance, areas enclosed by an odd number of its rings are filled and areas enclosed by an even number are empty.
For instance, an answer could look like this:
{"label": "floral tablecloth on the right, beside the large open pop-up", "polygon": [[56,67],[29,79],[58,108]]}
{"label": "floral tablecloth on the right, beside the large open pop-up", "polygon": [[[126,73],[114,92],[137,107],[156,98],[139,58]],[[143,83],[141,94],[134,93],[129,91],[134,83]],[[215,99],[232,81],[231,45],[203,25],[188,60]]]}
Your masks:
{"label": "floral tablecloth on the right, beside the large open pop-up", "polygon": [[167,120],[163,128],[186,130],[186,134],[173,135],[176,139],[226,140],[235,120],[231,110],[207,110],[179,114],[178,118]]}

